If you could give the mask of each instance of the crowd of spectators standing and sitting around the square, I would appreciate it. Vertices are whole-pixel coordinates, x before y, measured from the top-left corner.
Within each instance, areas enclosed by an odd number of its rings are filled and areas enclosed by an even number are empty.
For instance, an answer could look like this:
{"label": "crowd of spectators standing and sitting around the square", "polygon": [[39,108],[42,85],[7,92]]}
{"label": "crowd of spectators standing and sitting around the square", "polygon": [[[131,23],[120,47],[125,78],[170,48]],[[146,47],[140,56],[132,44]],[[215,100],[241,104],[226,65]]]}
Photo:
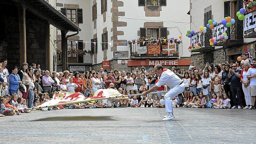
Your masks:
{"label": "crowd of spectators standing and sitting around the square", "polygon": [[[171,70],[185,83],[184,92],[177,95],[173,107],[215,108],[215,109],[255,109],[256,59],[250,54],[242,54],[242,61],[229,61],[219,64],[206,63],[197,68],[190,63],[188,70],[172,67]],[[30,112],[27,108],[38,106],[52,98],[55,91],[80,92],[85,97],[93,96],[99,89],[113,88],[123,95],[140,94],[152,88],[158,81],[154,69],[136,68],[135,72],[86,71],[85,73],[41,70],[40,64],[23,63],[20,68],[6,68],[7,60],[0,63],[1,116]],[[9,74],[10,73],[10,74]],[[24,84],[23,91],[19,84]],[[70,109],[106,107],[165,107],[162,85],[147,96],[113,98],[93,103],[72,104]],[[64,106],[63,106],[64,107]],[[62,108],[62,107],[61,107]],[[47,110],[60,109],[52,107]],[[46,111],[47,111],[46,110]]]}

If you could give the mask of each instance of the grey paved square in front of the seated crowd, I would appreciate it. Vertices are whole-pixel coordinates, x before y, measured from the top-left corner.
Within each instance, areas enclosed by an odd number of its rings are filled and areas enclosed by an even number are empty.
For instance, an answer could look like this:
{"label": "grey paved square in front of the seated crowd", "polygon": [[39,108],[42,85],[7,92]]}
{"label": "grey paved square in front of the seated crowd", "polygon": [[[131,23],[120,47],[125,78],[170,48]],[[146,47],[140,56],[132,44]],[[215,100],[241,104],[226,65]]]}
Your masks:
{"label": "grey paved square in front of the seated crowd", "polygon": [[[64,109],[1,117],[1,143],[256,143],[256,110]],[[3,142],[4,141],[4,142]]]}

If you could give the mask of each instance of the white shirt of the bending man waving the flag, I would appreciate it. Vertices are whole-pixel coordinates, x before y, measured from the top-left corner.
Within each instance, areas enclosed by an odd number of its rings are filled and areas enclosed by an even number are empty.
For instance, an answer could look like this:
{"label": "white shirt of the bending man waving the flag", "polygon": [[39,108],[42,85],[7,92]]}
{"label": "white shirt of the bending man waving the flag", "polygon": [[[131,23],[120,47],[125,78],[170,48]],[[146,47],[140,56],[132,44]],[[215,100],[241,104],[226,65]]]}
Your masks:
{"label": "white shirt of the bending man waving the flag", "polygon": [[156,86],[161,87],[165,83],[167,86],[169,86],[169,88],[174,88],[181,82],[182,80],[173,71],[167,69],[166,71],[162,72]]}

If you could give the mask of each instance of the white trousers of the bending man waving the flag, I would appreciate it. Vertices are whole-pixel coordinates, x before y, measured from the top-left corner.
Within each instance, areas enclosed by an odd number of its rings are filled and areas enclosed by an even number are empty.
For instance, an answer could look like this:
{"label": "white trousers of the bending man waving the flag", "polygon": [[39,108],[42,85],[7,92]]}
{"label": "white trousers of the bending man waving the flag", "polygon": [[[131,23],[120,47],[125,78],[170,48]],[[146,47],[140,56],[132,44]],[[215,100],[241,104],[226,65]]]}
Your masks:
{"label": "white trousers of the bending man waving the flag", "polygon": [[172,99],[182,93],[185,89],[185,84],[182,83],[179,86],[175,86],[174,88],[170,89],[165,95],[164,95],[164,102],[165,102],[165,111],[166,113],[173,113],[173,105],[172,105]]}

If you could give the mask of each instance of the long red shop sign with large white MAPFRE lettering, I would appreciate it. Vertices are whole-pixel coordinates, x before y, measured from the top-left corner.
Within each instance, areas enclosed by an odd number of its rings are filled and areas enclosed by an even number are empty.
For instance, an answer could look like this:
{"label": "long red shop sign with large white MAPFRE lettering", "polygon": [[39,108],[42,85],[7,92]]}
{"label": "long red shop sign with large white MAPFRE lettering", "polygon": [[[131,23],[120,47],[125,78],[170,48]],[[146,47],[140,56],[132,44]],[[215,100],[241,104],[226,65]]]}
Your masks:
{"label": "long red shop sign with large white MAPFRE lettering", "polygon": [[128,66],[152,66],[152,65],[190,65],[191,60],[128,60]]}

